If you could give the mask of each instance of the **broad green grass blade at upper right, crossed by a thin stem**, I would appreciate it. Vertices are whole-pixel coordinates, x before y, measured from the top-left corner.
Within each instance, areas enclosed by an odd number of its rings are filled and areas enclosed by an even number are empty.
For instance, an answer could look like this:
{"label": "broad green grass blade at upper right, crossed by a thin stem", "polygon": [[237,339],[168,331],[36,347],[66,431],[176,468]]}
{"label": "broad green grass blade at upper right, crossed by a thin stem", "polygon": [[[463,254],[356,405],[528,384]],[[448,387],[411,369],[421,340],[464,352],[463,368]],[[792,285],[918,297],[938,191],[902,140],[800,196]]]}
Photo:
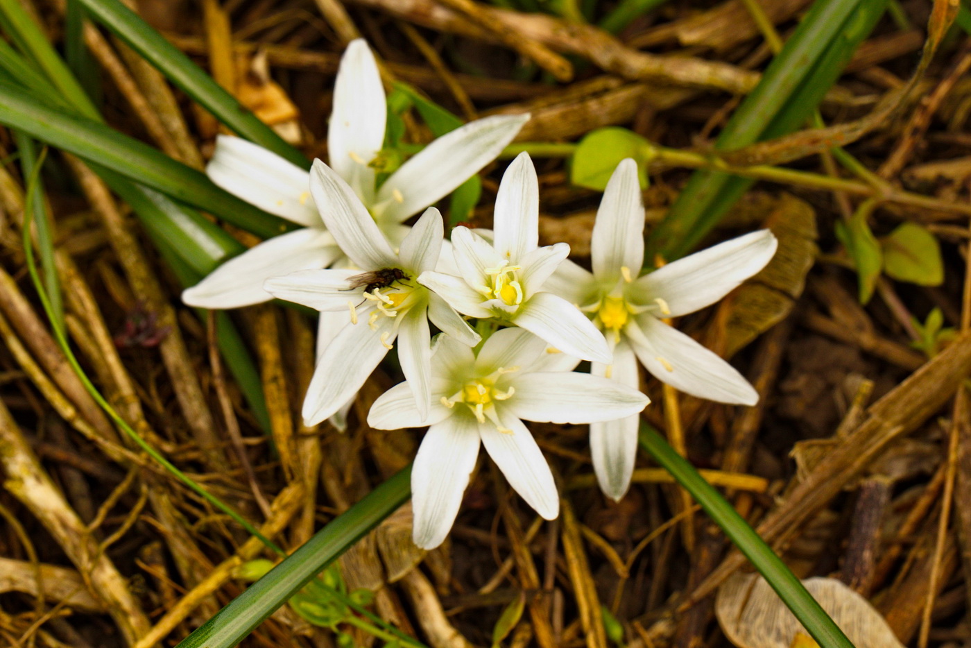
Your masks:
{"label": "broad green grass blade at upper right, crossed by a thin stem", "polygon": [[[817,0],[761,82],[725,124],[715,148],[745,147],[787,133],[809,119],[885,6],[886,0]],[[695,172],[667,217],[654,228],[647,261],[653,263],[656,254],[666,260],[684,256],[751,185],[752,181],[725,173]]]}

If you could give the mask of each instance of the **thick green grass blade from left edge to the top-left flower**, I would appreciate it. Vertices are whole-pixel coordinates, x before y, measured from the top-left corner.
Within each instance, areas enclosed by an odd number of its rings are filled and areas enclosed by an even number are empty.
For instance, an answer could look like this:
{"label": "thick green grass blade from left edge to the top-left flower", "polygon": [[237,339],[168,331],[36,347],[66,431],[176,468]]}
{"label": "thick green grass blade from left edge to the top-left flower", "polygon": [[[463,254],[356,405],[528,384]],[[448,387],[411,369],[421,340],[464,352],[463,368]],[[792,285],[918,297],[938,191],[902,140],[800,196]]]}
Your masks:
{"label": "thick green grass blade from left edge to the top-left flower", "polygon": [[17,85],[0,83],[0,123],[19,128],[35,139],[75,153],[258,236],[269,238],[295,227],[218,188],[201,171],[103,123],[52,108]]}

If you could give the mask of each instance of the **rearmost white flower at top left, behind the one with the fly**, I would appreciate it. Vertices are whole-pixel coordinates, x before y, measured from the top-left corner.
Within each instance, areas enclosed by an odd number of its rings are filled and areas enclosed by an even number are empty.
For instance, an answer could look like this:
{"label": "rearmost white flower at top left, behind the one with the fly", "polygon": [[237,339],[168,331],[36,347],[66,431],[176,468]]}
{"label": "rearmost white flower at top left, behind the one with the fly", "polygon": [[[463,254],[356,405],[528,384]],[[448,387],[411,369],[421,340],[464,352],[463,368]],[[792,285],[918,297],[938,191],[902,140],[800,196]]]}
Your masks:
{"label": "rearmost white flower at top left, behind the one with the fly", "polygon": [[[394,245],[408,233],[403,222],[479,172],[529,119],[527,115],[497,116],[467,123],[429,144],[376,189],[375,170],[369,163],[384,145],[386,112],[385,89],[374,55],[363,40],[352,41],[341,58],[334,87],[334,110],[327,131],[330,166],[353,188]],[[199,284],[184,290],[186,304],[248,306],[271,298],[263,290],[263,282],[270,277],[346,265],[344,252],[315,208],[307,171],[251,142],[220,135],[206,173],[219,187],[303,228],[229,259]]]}

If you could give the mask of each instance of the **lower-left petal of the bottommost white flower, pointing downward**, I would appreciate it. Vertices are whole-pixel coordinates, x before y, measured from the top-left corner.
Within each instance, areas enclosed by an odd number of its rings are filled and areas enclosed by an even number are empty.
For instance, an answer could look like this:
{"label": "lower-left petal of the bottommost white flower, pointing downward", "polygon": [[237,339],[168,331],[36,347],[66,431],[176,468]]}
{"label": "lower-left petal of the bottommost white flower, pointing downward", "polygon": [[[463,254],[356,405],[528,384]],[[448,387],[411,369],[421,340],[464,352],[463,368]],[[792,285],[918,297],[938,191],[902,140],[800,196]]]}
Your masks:
{"label": "lower-left petal of the bottommost white flower, pointing downward", "polygon": [[469,476],[479,457],[479,431],[471,416],[454,416],[428,428],[412,467],[413,538],[422,549],[442,544],[452,529]]}

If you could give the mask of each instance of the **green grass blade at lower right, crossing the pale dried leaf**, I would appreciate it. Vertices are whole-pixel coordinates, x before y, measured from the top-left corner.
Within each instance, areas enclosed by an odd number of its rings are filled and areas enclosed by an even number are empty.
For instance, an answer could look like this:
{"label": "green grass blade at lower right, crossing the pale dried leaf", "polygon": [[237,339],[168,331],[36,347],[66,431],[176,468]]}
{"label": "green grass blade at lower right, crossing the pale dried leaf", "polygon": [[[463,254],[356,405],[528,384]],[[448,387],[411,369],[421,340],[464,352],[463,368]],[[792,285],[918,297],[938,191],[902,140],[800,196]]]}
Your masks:
{"label": "green grass blade at lower right, crossing the pale dried leaf", "polygon": [[676,453],[647,424],[641,425],[639,441],[641,448],[671,473],[671,476],[694,497],[739,551],[752,561],[792,614],[817,640],[820,648],[854,648],[853,642],[833,623],[816,599],[789,571],[786,563],[776,556],[772,548],[765,544],[758,533],[687,460]]}

